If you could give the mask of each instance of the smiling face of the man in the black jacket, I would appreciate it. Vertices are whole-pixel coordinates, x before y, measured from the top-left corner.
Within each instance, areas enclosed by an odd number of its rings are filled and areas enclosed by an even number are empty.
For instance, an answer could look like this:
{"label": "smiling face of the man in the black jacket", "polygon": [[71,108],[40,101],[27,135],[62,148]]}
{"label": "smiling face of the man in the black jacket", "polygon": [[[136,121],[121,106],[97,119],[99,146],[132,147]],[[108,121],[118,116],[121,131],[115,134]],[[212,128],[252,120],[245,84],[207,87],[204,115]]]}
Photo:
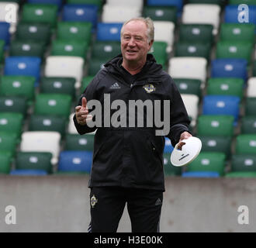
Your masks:
{"label": "smiling face of the man in the black jacket", "polygon": [[121,51],[124,64],[145,64],[153,41],[148,41],[147,26],[142,21],[131,21],[123,26]]}

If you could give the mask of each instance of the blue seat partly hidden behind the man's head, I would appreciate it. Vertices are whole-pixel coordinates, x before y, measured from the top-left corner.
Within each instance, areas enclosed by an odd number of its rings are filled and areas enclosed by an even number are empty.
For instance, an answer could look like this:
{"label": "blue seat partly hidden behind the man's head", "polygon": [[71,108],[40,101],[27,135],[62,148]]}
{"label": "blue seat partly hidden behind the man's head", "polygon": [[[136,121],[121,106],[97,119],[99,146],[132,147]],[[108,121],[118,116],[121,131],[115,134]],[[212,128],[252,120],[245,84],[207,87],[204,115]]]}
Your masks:
{"label": "blue seat partly hidden behind the man's head", "polygon": [[97,26],[97,40],[120,41],[122,23],[103,23]]}

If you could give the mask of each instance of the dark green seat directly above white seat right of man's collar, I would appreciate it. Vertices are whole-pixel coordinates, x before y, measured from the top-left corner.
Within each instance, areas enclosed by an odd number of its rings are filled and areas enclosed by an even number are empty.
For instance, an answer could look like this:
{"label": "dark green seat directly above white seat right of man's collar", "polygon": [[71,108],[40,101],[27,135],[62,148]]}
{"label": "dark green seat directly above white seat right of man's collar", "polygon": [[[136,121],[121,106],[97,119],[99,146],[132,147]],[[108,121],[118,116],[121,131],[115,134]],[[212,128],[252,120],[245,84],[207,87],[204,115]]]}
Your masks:
{"label": "dark green seat directly above white seat right of man's collar", "polygon": [[204,57],[209,60],[210,51],[209,43],[181,41],[176,44],[175,57]]}

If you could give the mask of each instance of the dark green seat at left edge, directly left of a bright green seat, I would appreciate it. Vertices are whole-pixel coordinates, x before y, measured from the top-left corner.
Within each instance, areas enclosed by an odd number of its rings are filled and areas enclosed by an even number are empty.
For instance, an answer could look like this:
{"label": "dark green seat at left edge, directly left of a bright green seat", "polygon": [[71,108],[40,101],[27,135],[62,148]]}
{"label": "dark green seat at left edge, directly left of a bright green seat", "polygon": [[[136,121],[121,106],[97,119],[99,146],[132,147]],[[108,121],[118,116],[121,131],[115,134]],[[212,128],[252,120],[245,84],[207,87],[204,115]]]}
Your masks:
{"label": "dark green seat at left edge, directly left of a bright green seat", "polygon": [[26,115],[26,98],[21,96],[0,96],[0,112],[16,112]]}

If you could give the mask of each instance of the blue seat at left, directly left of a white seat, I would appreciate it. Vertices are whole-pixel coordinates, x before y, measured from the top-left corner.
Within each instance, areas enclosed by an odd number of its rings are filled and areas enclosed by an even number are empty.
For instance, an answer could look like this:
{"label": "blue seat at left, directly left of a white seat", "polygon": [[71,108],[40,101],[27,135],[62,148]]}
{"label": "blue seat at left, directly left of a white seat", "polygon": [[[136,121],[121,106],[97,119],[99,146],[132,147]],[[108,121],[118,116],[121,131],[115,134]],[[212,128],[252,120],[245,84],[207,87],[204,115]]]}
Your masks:
{"label": "blue seat at left, directly left of a white seat", "polygon": [[36,84],[40,79],[40,57],[11,56],[5,59],[5,75],[24,75],[36,78]]}

